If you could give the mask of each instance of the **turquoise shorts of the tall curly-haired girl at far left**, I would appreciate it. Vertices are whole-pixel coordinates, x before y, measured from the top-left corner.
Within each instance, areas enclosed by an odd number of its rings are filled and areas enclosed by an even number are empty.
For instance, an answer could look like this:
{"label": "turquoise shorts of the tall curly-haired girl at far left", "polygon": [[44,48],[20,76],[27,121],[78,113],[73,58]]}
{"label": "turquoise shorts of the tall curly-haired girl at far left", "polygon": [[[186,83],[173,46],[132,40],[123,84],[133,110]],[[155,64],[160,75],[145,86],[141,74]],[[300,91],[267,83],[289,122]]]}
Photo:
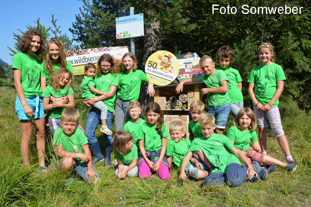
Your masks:
{"label": "turquoise shorts of the tall curly-haired girl at far left", "polygon": [[44,110],[43,110],[43,98],[42,96],[36,94],[33,97],[25,97],[28,106],[34,111],[35,116],[27,116],[24,111],[24,107],[21,104],[21,100],[18,96],[16,96],[16,102],[15,102],[15,111],[16,115],[18,117],[18,120],[29,120],[29,119],[39,119],[44,117]]}

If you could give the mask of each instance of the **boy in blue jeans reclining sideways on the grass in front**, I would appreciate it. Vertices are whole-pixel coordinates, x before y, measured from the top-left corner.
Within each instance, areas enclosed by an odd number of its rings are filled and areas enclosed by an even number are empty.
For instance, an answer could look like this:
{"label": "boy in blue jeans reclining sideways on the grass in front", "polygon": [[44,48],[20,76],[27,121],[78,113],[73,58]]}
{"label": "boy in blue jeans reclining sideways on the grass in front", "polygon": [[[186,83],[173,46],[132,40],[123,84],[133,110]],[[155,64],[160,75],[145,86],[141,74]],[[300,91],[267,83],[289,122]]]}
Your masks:
{"label": "boy in blue jeans reclining sideways on the grass in front", "polygon": [[[186,178],[184,171],[193,155],[193,151],[199,151],[200,158],[204,162],[208,159],[213,166],[213,170],[204,180],[204,185],[216,186],[227,182],[229,186],[236,187],[244,183],[246,179],[255,182],[259,178],[265,179],[268,177],[267,170],[260,167],[256,162],[249,163],[243,153],[233,146],[228,137],[214,133],[216,125],[215,118],[212,115],[201,115],[199,123],[203,137],[195,138],[191,142],[181,165],[180,180]],[[203,153],[206,157],[202,156]],[[242,167],[241,162],[246,166]]]}

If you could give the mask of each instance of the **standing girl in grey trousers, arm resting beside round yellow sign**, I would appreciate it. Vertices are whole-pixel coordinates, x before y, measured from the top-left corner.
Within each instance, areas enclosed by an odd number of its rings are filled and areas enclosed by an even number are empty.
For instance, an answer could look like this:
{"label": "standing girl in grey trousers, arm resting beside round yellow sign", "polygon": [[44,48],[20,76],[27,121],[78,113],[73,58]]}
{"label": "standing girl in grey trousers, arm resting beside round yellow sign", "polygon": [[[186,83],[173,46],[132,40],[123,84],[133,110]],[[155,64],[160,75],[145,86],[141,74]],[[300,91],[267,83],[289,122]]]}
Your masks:
{"label": "standing girl in grey trousers, arm resting beside round yellow sign", "polygon": [[131,52],[127,52],[122,58],[123,71],[120,73],[120,91],[117,94],[117,101],[115,104],[115,128],[116,132],[123,130],[123,122],[131,120],[128,114],[128,103],[133,100],[138,100],[140,94],[141,83],[148,84],[147,94],[154,96],[155,90],[153,83],[147,78],[142,70],[137,69],[137,59]]}

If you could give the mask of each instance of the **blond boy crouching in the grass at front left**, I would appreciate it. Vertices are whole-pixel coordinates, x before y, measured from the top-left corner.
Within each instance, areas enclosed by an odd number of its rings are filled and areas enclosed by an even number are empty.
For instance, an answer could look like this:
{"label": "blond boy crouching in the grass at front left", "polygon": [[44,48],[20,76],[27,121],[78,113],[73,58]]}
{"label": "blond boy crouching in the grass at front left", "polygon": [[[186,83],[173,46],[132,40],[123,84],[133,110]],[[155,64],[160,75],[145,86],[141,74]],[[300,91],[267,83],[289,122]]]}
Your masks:
{"label": "blond boy crouching in the grass at front left", "polygon": [[75,108],[67,108],[62,112],[62,128],[55,131],[53,139],[53,146],[58,154],[57,166],[68,173],[77,173],[85,181],[95,184],[99,180],[99,174],[92,165],[87,138],[77,128],[79,116],[79,111]]}

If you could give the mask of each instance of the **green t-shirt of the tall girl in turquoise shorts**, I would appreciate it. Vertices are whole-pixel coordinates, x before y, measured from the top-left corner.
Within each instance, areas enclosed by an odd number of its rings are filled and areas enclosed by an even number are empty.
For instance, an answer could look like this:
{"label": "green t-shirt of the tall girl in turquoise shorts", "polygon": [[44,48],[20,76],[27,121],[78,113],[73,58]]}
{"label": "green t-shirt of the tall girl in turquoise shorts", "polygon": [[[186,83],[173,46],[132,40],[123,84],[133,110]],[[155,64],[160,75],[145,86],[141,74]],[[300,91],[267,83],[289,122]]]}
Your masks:
{"label": "green t-shirt of the tall girl in turquoise shorts", "polygon": [[41,63],[34,56],[23,52],[16,53],[13,56],[13,69],[21,70],[21,86],[25,97],[33,97],[36,94],[42,95],[40,88],[40,70]]}

